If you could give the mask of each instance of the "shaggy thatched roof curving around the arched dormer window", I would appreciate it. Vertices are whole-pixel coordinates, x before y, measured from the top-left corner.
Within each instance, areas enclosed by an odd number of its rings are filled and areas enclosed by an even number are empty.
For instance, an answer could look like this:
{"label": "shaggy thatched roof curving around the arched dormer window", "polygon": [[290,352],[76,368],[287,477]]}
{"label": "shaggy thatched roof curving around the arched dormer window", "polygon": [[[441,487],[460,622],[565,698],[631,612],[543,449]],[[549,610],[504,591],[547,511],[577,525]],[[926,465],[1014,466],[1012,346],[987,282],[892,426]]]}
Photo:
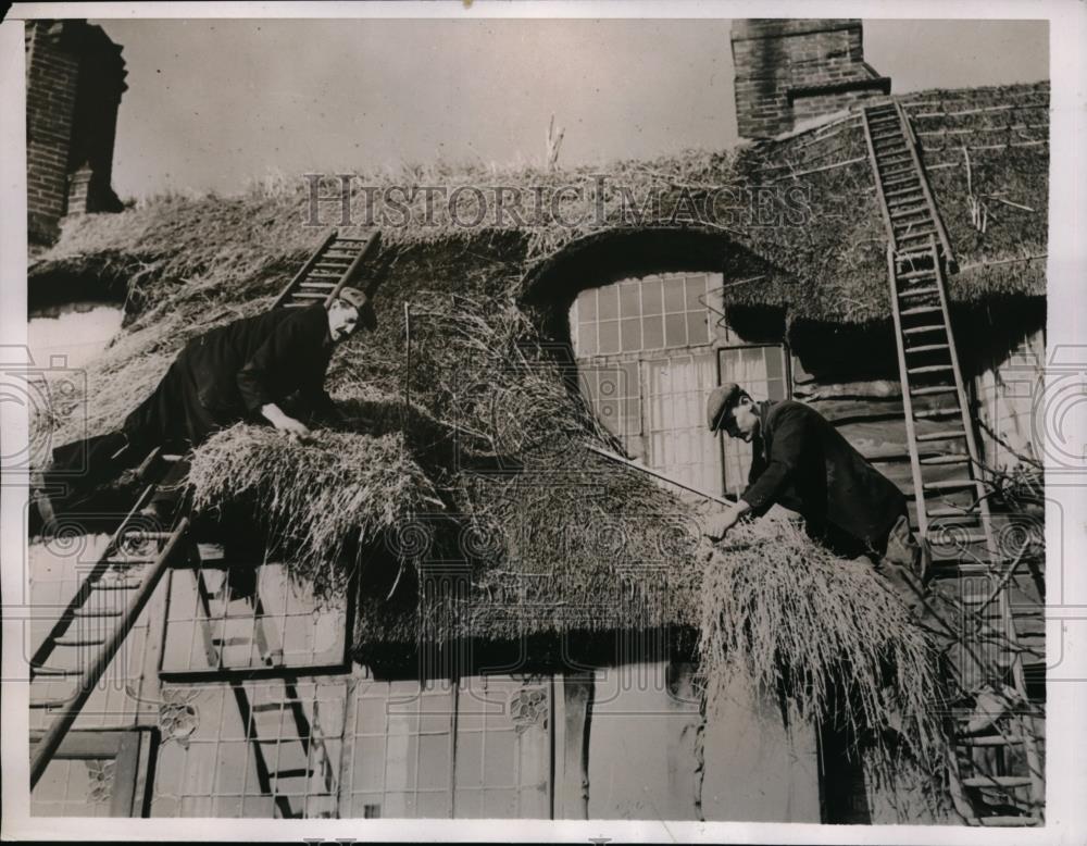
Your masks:
{"label": "shaggy thatched roof curving around the arched dormer window", "polygon": [[[1048,85],[928,91],[902,101],[917,122],[962,268],[952,298],[1044,294],[1045,262],[1023,259],[1046,249]],[[380,326],[346,345],[330,370],[334,396],[360,412],[357,425],[335,436],[348,440],[308,450],[264,443],[241,427],[224,433],[198,456],[202,503],[262,506],[283,547],[304,552],[296,574],[321,589],[342,585],[341,553],[363,561],[361,650],[410,645],[421,625],[439,642],[697,626],[701,571],[676,551],[692,543],[689,509],[582,448],[608,440],[569,390],[536,307],[551,298],[564,306],[577,287],[607,281],[587,273],[614,277],[664,269],[654,262],[677,270],[689,262],[761,277],[729,289],[734,306],[777,307],[794,321],[885,320],[883,224],[864,157],[854,115],[729,153],[617,163],[605,184],[629,188],[644,209],[637,224],[622,216],[621,192],[604,190],[560,197],[524,225],[507,217],[464,228],[439,203],[427,225],[385,226],[363,274],[376,290]],[[460,185],[558,188],[577,181],[600,184],[588,171],[440,165],[371,174],[358,184],[445,185],[452,194]],[[722,186],[734,191],[734,208],[722,201],[712,219],[685,223],[686,212],[676,210]],[[735,207],[762,197],[760,186],[775,190],[745,217]],[[984,233],[971,224],[972,196],[990,210]],[[474,202],[468,191],[461,199]],[[579,212],[587,216],[575,225],[555,222]],[[335,221],[338,208],[326,203],[322,213]],[[74,397],[38,424],[54,430],[55,443],[116,426],[188,337],[270,306],[327,232],[303,225],[308,214],[307,190],[278,185],[242,197],[162,198],[66,224],[30,269],[32,299],[50,286],[98,281],[124,286],[130,318],[87,374],[86,414],[73,413],[84,399]],[[414,315],[410,365],[405,303]],[[246,453],[247,445],[258,451]],[[261,462],[246,463],[247,455]],[[420,485],[409,495],[364,475],[364,462],[337,456],[395,460]],[[237,472],[241,465],[250,472]],[[300,478],[341,486],[321,500],[328,508],[349,503],[334,526],[309,513],[290,524],[295,511],[270,509],[276,493]],[[420,547],[418,533],[430,530]],[[421,548],[428,553],[420,557]],[[384,569],[374,563],[382,560]],[[400,561],[411,562],[407,582],[387,600]],[[430,584],[436,573],[446,593],[427,588],[416,602],[405,585]]]}

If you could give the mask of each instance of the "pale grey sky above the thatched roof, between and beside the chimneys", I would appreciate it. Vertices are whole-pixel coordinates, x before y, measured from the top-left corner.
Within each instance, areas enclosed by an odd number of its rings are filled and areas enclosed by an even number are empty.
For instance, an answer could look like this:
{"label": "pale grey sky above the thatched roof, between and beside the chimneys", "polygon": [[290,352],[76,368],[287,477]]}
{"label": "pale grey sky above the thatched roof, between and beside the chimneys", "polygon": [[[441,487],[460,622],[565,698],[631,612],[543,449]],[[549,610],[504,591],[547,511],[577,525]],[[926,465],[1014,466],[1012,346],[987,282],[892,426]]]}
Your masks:
{"label": "pale grey sky above the thatched roof, between and beside the chimneys", "polygon": [[[727,20],[95,21],[123,45],[122,197],[399,162],[560,164],[737,140]],[[871,21],[895,92],[1048,78],[1048,24]]]}

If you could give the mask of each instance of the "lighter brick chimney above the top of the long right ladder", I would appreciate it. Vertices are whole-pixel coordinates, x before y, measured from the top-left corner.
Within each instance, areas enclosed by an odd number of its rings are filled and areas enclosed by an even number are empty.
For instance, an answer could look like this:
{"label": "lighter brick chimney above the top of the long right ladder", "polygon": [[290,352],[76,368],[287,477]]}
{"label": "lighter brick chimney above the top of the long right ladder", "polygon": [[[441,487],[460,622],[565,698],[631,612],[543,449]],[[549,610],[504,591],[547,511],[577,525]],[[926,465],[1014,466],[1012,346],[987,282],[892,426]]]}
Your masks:
{"label": "lighter brick chimney above the top of the long right ladder", "polygon": [[890,78],[864,61],[855,18],[736,20],[732,42],[744,138],[770,138],[890,94]]}

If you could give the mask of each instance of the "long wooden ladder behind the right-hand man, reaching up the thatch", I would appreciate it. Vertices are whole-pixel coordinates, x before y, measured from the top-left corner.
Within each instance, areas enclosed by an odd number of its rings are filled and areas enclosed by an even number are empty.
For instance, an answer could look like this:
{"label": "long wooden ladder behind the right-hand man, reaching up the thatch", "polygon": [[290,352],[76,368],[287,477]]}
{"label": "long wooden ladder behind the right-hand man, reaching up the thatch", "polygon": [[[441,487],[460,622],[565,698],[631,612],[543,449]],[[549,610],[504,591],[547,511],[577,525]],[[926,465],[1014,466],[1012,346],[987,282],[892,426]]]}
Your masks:
{"label": "long wooden ladder behind the right-hand man, reaching up the thatch", "polygon": [[[998,655],[987,669],[996,669],[1023,705],[1014,709],[1020,712],[1001,718],[990,734],[957,737],[950,768],[952,798],[972,825],[1040,825],[1045,773],[1034,719],[1042,709],[1027,696],[1022,658],[1026,650],[1009,596],[1025,545],[1007,560],[994,535],[991,492],[980,473],[948,311],[944,274],[945,269],[955,269],[951,245],[901,105],[864,109],[863,125],[889,240],[888,278],[913,476],[914,528],[929,548],[946,549],[945,536],[957,547],[950,555],[934,555],[935,575],[958,578],[963,587],[982,586],[977,593],[963,589],[962,600],[975,619],[999,632]],[[952,503],[948,496],[955,494],[969,501]],[[976,792],[979,805],[996,799],[990,807],[1000,810],[978,816],[964,791]]]}

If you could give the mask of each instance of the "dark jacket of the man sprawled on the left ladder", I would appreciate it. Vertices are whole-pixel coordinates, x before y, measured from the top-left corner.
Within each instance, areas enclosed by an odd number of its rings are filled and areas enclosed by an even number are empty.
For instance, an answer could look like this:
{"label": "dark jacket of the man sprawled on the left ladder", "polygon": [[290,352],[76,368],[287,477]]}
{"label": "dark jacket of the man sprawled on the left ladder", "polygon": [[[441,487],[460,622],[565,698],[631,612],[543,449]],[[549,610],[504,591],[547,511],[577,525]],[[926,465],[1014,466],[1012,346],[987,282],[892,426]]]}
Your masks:
{"label": "dark jacket of the man sprawled on the left ladder", "polygon": [[190,340],[178,356],[201,405],[216,416],[252,415],[298,391],[309,408],[329,403],[324,389],[332,358],[328,318],[320,302],[275,309]]}

